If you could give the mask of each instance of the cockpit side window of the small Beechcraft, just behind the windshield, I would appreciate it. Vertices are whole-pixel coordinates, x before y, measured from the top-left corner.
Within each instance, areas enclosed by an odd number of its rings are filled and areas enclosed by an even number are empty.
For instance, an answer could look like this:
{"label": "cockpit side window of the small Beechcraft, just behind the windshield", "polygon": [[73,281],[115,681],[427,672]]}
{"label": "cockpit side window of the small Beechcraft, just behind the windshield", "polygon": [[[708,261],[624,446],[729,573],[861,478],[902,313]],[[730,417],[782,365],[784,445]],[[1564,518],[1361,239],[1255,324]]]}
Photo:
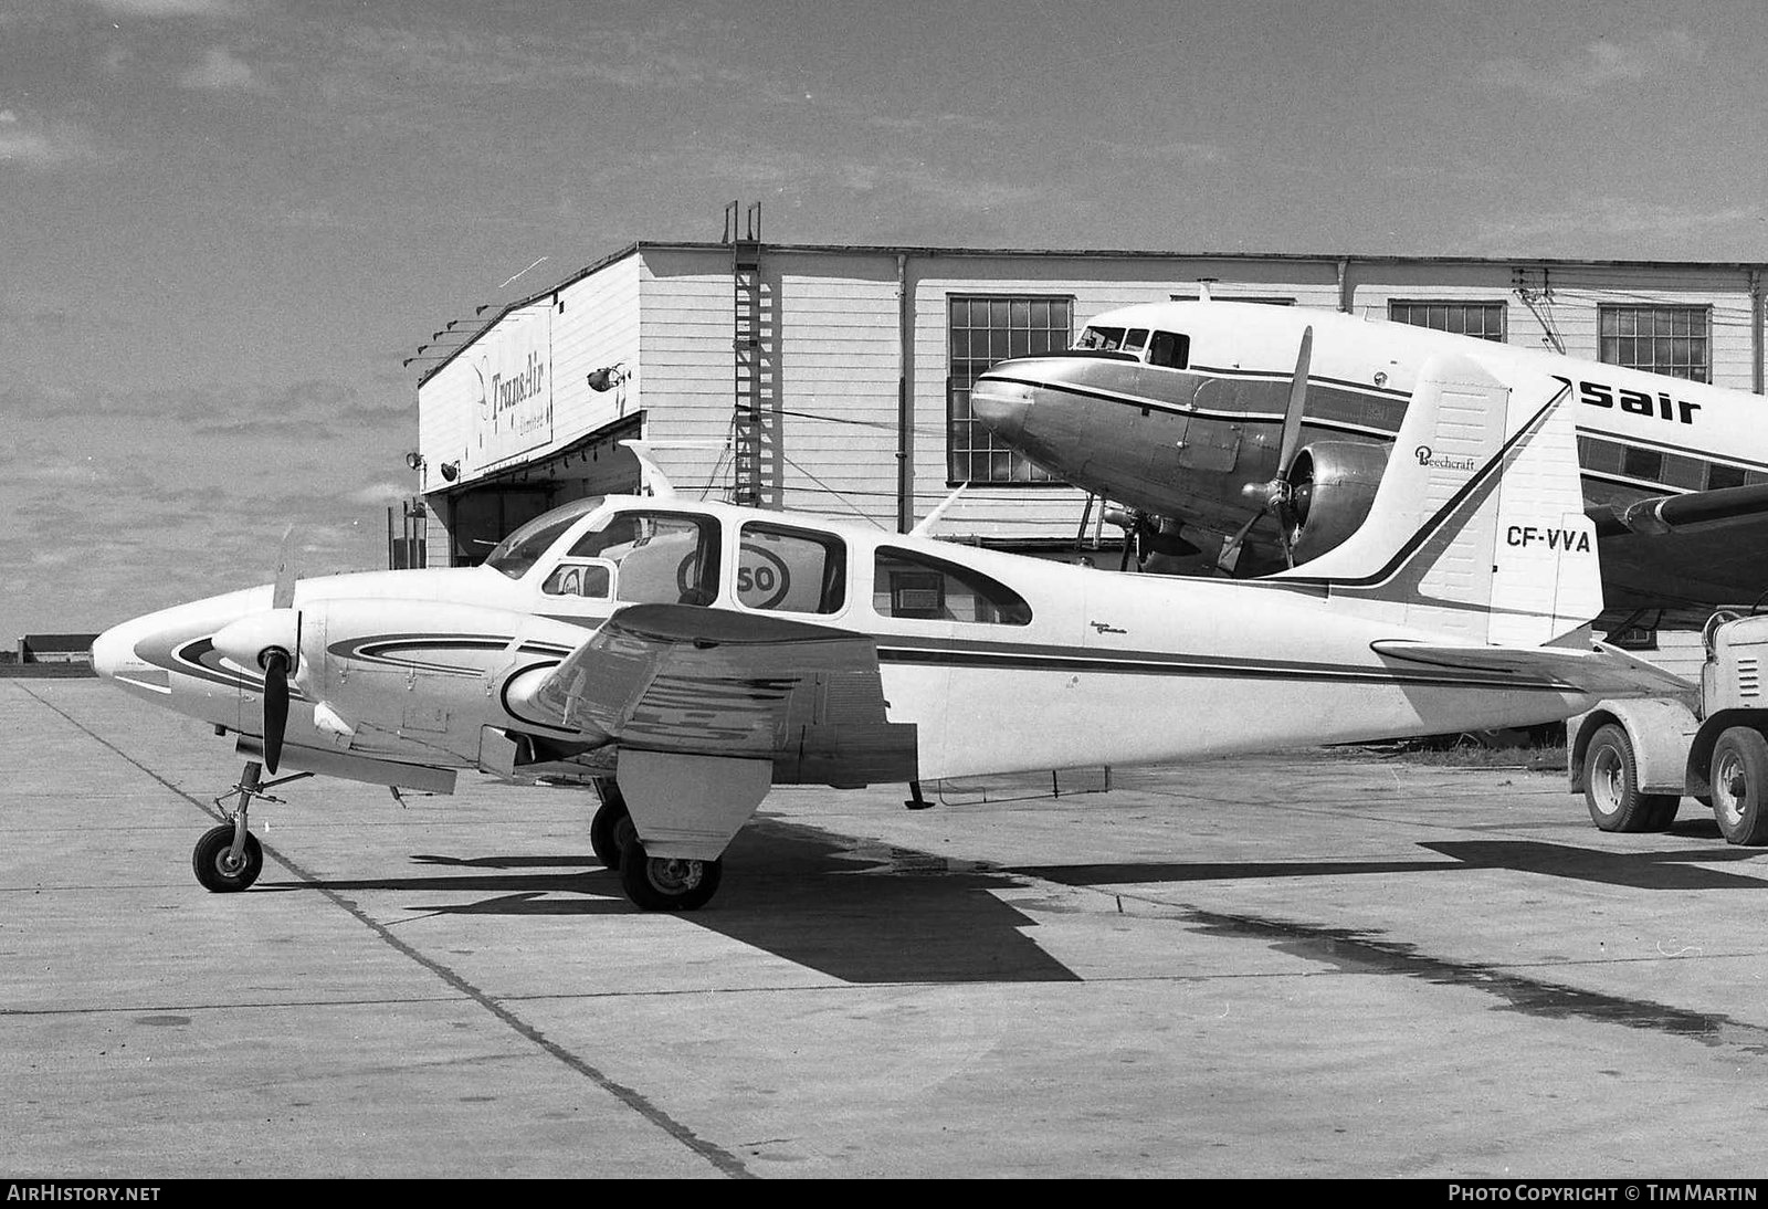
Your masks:
{"label": "cockpit side window of the small Beechcraft, just behind the windshield", "polygon": [[[617,513],[583,534],[555,574],[608,569],[613,599],[711,604],[718,597],[718,521],[677,513]],[[548,582],[552,582],[548,578]]]}

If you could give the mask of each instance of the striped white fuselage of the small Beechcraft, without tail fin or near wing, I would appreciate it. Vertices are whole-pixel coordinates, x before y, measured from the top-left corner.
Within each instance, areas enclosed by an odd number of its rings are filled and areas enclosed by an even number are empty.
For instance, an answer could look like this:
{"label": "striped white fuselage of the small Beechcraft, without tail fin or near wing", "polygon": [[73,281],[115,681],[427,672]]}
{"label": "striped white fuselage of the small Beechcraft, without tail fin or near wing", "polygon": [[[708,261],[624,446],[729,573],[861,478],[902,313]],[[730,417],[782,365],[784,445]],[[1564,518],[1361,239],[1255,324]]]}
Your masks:
{"label": "striped white fuselage of the small Beechcraft, without tail fin or near wing", "polygon": [[[582,553],[621,525],[652,536],[619,557]],[[523,686],[636,603],[868,636],[889,721],[914,726],[921,779],[1551,721],[1591,700],[1552,675],[1383,656],[1374,642],[1411,631],[1345,615],[1307,583],[1124,576],[644,497],[587,507],[534,546],[527,566],[506,571],[301,580],[285,762],[392,785],[424,785],[401,781],[400,767],[606,776],[613,753],[583,749],[582,734],[536,712]],[[126,622],[101,636],[95,663],[131,693],[237,732],[249,751],[263,673],[223,654],[216,636],[269,610],[271,592]],[[716,737],[716,703],[702,712]]]}

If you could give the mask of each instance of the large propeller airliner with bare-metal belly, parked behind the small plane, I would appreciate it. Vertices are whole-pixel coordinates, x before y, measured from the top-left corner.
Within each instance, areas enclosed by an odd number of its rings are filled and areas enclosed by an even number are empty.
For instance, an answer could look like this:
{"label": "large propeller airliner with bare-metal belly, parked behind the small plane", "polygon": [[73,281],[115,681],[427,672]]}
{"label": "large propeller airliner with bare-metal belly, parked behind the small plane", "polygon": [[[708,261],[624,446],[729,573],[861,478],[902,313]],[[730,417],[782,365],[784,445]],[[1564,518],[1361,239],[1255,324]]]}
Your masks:
{"label": "large propeller airliner with bare-metal belly, parked behind the small plane", "polygon": [[[1671,341],[1665,341],[1671,343]],[[1669,352],[1674,352],[1673,348]],[[1577,412],[1582,507],[1609,608],[1749,603],[1768,590],[1763,399],[1685,378],[1407,323],[1254,302],[1151,302],[1075,348],[992,366],[971,410],[1057,477],[1132,509],[1149,569],[1257,574],[1358,528],[1434,357]]]}

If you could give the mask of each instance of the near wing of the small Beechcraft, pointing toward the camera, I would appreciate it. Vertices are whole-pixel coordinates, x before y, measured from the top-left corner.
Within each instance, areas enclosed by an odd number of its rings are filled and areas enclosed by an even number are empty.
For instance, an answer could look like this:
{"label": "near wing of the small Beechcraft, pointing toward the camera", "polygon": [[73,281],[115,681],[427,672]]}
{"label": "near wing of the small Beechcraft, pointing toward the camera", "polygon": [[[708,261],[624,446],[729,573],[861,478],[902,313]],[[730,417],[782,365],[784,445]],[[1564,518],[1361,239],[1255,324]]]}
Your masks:
{"label": "near wing of the small Beechcraft, pointing toward the camera", "polygon": [[916,778],[916,728],[886,718],[877,643],[845,629],[633,604],[523,696],[594,746],[769,760],[774,785]]}

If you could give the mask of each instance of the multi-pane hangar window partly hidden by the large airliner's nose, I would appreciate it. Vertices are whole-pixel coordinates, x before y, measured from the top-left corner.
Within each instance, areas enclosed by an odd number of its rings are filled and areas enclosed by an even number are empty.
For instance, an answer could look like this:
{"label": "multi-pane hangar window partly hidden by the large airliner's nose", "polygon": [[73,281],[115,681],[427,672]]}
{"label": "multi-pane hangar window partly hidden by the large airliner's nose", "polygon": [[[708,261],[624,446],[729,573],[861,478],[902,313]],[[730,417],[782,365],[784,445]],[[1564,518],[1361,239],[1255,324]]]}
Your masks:
{"label": "multi-pane hangar window partly hidden by the large airliner's nose", "polygon": [[953,297],[948,308],[951,357],[946,368],[946,479],[953,486],[1055,483],[1048,470],[995,438],[971,414],[971,387],[997,361],[1041,357],[1068,348],[1073,299]]}

